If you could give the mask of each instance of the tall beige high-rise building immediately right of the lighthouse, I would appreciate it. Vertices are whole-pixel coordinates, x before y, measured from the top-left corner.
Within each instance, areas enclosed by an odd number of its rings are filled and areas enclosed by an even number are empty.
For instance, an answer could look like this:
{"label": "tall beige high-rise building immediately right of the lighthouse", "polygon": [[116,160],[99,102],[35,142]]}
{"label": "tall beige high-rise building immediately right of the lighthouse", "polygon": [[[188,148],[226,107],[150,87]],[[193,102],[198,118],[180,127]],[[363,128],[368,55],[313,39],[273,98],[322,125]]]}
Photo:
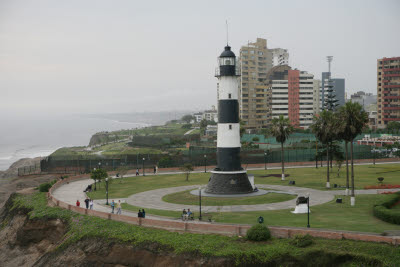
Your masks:
{"label": "tall beige high-rise building immediately right of the lighthouse", "polygon": [[247,129],[266,127],[269,121],[269,97],[265,80],[272,68],[267,40],[257,38],[240,49],[240,118]]}

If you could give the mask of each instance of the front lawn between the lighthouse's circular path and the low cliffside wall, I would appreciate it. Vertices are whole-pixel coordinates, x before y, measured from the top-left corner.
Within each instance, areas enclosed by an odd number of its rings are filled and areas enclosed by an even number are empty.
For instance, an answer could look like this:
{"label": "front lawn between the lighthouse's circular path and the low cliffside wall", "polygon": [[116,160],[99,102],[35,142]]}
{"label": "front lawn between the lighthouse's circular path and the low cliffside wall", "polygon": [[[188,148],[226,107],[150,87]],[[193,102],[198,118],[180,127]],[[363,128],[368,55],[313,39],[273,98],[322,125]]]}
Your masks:
{"label": "front lawn between the lighthouse's circular path and the low cliffside wall", "polygon": [[[356,197],[356,206],[350,206],[350,198],[343,197],[343,203],[335,201],[310,208],[312,228],[382,233],[385,230],[400,230],[400,225],[386,223],[373,216],[375,202],[389,198],[389,195],[360,195]],[[138,212],[140,207],[123,204],[123,209]],[[307,214],[293,214],[291,210],[220,212],[211,213],[216,222],[255,224],[259,216],[271,226],[306,227]],[[180,218],[181,212],[146,209],[147,214]],[[198,214],[195,214],[198,217]]]}

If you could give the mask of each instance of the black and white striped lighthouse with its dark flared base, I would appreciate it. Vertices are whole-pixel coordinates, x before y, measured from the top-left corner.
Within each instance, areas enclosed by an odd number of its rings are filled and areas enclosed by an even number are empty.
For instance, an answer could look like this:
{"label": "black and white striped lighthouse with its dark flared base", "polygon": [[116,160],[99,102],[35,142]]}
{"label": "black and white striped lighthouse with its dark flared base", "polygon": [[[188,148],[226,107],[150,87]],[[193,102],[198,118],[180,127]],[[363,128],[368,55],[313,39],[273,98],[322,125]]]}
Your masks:
{"label": "black and white striped lighthouse with its dark flared base", "polygon": [[219,83],[217,167],[205,189],[211,194],[244,194],[253,187],[240,163],[239,76],[230,46],[218,58]]}

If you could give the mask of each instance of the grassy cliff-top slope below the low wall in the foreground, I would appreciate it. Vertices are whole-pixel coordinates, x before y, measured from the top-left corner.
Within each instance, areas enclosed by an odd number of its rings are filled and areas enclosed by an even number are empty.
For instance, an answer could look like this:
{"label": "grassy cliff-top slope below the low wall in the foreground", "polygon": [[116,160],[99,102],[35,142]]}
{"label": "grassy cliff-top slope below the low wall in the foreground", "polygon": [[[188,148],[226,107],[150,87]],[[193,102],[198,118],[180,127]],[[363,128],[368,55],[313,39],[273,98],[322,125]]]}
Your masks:
{"label": "grassy cliff-top slope below the low wall in the foreground", "polygon": [[[366,243],[350,240],[315,239],[314,244],[306,248],[298,248],[290,244],[288,239],[272,239],[268,242],[247,242],[238,237],[218,235],[189,234],[168,232],[121,222],[104,220],[73,213],[58,207],[46,205],[46,194],[19,195],[14,200],[13,208],[28,208],[30,218],[61,218],[70,227],[65,235],[64,248],[82,238],[99,237],[114,239],[141,246],[151,243],[162,245],[162,249],[170,249],[175,253],[196,253],[203,256],[229,257],[236,264],[263,262],[273,265],[297,263],[313,263],[319,266],[332,265],[340,259],[346,265],[386,265],[400,264],[400,248],[391,245]],[[348,259],[347,262],[343,262]],[[339,262],[337,262],[339,263]]]}

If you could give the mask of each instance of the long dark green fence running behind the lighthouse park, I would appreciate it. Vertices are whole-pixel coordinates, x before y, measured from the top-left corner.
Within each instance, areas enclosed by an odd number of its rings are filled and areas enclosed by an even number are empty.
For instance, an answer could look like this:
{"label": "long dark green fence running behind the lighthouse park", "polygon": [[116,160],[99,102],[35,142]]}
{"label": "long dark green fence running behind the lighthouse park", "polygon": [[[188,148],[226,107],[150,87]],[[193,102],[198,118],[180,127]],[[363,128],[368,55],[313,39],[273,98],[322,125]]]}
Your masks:
{"label": "long dark green fence running behind the lighthouse park", "polygon": [[[343,145],[342,151],[344,151]],[[370,146],[354,144],[354,159],[373,159],[391,157],[391,153],[373,153]],[[319,147],[321,152],[321,147]],[[284,151],[285,162],[305,162],[316,160],[316,149],[291,149]],[[350,152],[350,151],[349,151]],[[343,152],[342,152],[343,153]],[[281,162],[280,149],[243,149],[241,152],[242,165],[277,163]],[[320,154],[318,161],[326,161],[326,155]],[[180,167],[185,163],[191,163],[193,166],[216,165],[216,148],[194,147],[178,155],[167,154],[136,154],[136,155],[113,155],[105,156],[49,156],[40,162],[40,169],[47,173],[87,173],[94,168],[104,168],[106,170],[116,170],[121,166],[132,169],[142,169],[143,167],[152,168],[158,166]],[[24,170],[23,173],[26,173]],[[29,172],[29,171],[28,171]]]}

